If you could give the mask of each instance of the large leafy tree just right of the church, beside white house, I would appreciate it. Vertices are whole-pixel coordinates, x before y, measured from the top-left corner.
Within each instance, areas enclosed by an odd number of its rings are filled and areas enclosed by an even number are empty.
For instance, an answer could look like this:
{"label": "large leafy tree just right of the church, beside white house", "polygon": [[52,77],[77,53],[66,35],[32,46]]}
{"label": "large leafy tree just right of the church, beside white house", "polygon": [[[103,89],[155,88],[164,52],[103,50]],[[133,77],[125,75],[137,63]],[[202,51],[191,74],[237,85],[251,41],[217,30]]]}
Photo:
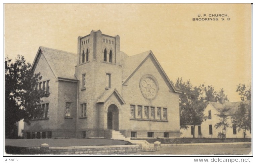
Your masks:
{"label": "large leafy tree just right of the church, beside white house", "polygon": [[206,119],[203,113],[207,104],[203,97],[204,85],[193,87],[189,80],[184,82],[182,78],[178,78],[175,87],[182,91],[179,97],[180,128],[186,129],[187,122],[190,122],[194,126],[193,138],[195,138],[195,126]]}

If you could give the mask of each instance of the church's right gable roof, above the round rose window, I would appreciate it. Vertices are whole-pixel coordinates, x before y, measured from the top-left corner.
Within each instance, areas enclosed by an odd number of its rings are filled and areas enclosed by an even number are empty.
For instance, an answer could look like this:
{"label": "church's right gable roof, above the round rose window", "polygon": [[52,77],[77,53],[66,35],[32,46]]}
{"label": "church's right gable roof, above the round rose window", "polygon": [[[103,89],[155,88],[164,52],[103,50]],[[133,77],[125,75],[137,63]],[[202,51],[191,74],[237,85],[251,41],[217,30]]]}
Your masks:
{"label": "church's right gable roof, above the round rose window", "polygon": [[134,56],[127,57],[125,59],[124,64],[124,71],[123,71],[123,85],[131,78],[131,76],[139,69],[139,67],[146,61],[147,58],[151,57],[154,64],[158,69],[160,69],[161,75],[167,81],[168,87],[170,87],[175,93],[181,93],[181,90],[175,88],[171,83],[171,80],[168,78],[167,74],[165,73],[164,69],[156,59],[153,52],[146,51]]}

